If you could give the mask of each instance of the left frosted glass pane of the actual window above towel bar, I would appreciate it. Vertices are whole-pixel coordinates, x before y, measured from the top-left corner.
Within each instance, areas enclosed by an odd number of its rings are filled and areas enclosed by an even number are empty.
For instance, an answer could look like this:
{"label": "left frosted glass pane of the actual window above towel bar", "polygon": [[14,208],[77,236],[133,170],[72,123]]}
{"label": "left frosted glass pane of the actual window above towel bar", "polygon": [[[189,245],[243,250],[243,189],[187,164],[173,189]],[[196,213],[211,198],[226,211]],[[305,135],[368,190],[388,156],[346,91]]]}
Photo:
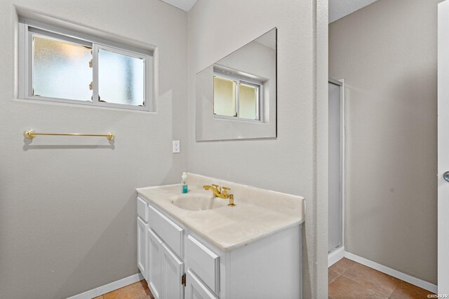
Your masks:
{"label": "left frosted glass pane of the actual window above towel bar", "polygon": [[92,48],[33,35],[33,95],[91,101]]}

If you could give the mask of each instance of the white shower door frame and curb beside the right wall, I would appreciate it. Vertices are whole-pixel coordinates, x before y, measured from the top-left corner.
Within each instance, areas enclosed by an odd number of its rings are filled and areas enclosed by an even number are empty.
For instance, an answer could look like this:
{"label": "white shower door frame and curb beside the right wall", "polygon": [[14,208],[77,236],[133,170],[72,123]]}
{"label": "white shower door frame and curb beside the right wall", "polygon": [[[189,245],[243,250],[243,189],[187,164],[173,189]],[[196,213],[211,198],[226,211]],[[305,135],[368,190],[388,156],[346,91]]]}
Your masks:
{"label": "white shower door frame and curb beside the right wall", "polygon": [[340,86],[340,167],[341,167],[341,175],[340,175],[340,186],[341,186],[341,200],[342,200],[342,206],[341,206],[341,213],[342,213],[342,239],[341,239],[341,246],[337,247],[334,251],[331,251],[328,253],[328,267],[330,265],[333,265],[338,260],[344,258],[344,165],[345,165],[345,113],[344,113],[344,79],[335,80],[333,78],[328,79],[328,83],[332,83],[335,85]]}

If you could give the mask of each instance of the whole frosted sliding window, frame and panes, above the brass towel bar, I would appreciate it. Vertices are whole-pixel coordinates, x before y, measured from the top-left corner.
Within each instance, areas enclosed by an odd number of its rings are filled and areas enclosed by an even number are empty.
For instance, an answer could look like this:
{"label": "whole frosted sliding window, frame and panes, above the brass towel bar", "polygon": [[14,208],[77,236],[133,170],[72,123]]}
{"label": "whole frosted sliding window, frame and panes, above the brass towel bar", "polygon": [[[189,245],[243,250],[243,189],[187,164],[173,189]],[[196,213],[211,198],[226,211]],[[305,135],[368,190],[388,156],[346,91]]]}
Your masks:
{"label": "whole frosted sliding window, frame and panes, above the brass towel bar", "polygon": [[19,20],[20,99],[150,111],[153,51]]}

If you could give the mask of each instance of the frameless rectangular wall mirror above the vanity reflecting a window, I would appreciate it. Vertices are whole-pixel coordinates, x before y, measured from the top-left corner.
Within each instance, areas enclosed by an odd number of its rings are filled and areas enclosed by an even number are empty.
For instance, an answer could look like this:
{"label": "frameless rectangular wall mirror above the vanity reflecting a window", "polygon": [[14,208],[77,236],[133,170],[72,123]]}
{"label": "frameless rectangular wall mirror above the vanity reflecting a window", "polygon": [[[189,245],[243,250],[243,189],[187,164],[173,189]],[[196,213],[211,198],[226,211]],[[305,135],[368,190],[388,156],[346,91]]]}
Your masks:
{"label": "frameless rectangular wall mirror above the vanity reflecting a window", "polygon": [[196,74],[196,141],[276,138],[276,34]]}

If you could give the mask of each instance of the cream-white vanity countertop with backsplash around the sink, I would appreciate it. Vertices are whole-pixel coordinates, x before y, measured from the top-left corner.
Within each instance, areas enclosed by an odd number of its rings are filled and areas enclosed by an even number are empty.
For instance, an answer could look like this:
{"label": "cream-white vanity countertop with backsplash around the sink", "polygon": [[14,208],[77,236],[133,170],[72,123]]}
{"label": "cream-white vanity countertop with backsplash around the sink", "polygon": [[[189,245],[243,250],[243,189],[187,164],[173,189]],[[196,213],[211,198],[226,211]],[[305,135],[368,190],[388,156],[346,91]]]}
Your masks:
{"label": "cream-white vanity countertop with backsplash around the sink", "polygon": [[196,174],[189,174],[188,181],[189,193],[211,195],[210,190],[202,188],[210,183],[232,187],[230,193],[234,193],[236,206],[203,211],[180,209],[171,201],[171,197],[182,194],[180,184],[139,188],[137,191],[140,197],[222,251],[231,251],[304,222],[304,198],[300,196]]}

